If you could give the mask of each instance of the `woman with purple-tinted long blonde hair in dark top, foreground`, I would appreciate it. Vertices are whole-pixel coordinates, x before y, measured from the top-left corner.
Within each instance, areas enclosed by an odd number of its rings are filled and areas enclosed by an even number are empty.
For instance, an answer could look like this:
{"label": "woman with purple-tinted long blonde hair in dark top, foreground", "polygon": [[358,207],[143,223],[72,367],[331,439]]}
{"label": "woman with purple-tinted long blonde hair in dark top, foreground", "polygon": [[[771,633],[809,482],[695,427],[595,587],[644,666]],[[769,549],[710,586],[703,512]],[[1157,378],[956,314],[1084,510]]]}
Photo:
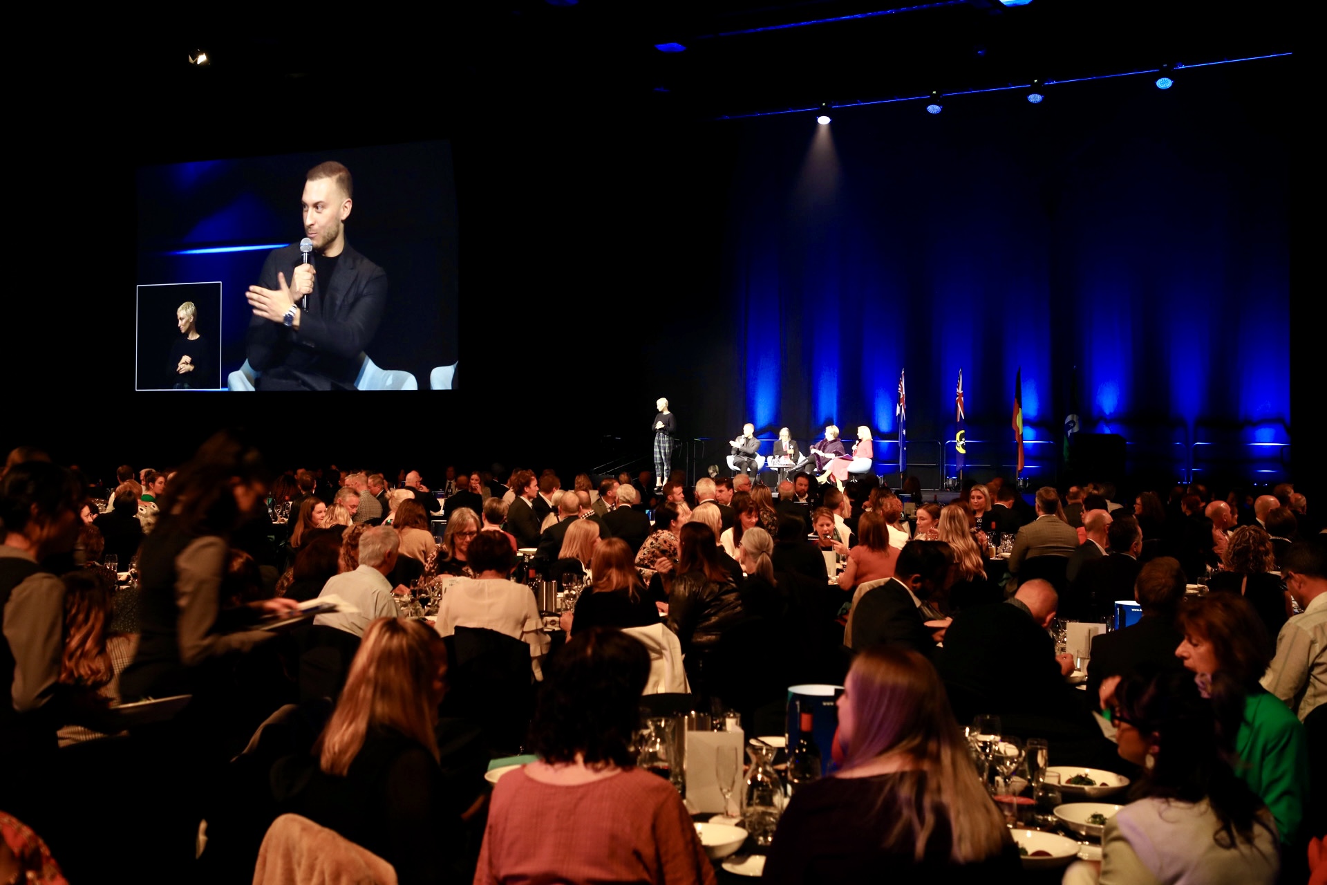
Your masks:
{"label": "woman with purple-tinted long blonde hair in dark top, foreground", "polygon": [[799,789],[764,865],[772,882],[1010,881],[1018,848],[977,778],[945,686],[917,651],[861,651],[839,698],[843,767]]}

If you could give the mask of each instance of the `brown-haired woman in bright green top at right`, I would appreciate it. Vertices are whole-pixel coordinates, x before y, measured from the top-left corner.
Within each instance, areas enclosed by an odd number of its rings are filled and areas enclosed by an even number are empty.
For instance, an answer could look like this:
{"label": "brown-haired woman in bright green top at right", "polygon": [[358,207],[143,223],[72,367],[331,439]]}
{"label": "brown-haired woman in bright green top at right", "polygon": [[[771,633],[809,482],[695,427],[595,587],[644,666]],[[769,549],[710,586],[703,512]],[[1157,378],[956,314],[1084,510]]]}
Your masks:
{"label": "brown-haired woman in bright green top at right", "polygon": [[1198,674],[1200,687],[1216,673],[1243,687],[1237,770],[1271,811],[1282,845],[1295,844],[1307,799],[1308,742],[1290,707],[1258,685],[1270,663],[1258,613],[1243,597],[1210,593],[1181,606],[1177,621],[1184,641],[1176,657]]}

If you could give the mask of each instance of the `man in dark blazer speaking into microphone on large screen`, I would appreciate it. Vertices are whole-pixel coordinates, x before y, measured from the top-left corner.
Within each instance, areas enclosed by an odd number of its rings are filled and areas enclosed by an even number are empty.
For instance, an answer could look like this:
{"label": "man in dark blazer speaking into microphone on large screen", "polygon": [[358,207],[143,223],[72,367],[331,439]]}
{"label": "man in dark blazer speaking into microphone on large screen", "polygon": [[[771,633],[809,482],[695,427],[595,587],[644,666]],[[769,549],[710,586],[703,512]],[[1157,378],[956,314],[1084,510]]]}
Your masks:
{"label": "man in dark blazer speaking into microphone on large screen", "polygon": [[248,288],[248,361],[260,373],[259,390],[354,389],[360,354],[387,301],[387,275],[345,241],[352,191],[341,163],[311,169],[300,211],[312,264],[301,263],[297,243],[273,249],[259,285]]}

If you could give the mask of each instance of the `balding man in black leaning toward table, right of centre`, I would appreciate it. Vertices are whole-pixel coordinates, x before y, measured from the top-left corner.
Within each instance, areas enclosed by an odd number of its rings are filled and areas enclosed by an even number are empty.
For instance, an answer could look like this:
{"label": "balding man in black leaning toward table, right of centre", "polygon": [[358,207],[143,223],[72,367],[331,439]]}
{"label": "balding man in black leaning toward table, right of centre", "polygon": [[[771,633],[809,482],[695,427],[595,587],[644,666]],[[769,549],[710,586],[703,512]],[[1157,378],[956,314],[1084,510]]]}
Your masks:
{"label": "balding man in black leaning toward table, right of centre", "polygon": [[1087,766],[1101,751],[1100,731],[1064,678],[1074,658],[1056,657],[1047,632],[1058,608],[1050,581],[1031,580],[1005,602],[959,612],[938,669],[959,722],[995,714],[1006,732],[1054,735],[1056,759]]}

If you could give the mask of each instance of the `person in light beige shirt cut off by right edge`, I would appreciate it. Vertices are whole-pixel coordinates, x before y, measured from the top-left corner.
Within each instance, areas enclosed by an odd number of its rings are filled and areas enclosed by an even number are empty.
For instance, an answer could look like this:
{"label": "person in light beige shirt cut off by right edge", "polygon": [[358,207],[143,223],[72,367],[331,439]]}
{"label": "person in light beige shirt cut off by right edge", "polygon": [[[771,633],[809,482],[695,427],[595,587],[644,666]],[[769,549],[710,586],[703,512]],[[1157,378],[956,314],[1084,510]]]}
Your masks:
{"label": "person in light beige shirt cut off by right edge", "polygon": [[[1303,722],[1327,703],[1327,537],[1291,544],[1281,576],[1300,613],[1281,628],[1262,686]],[[1327,796],[1319,801],[1327,803]]]}

